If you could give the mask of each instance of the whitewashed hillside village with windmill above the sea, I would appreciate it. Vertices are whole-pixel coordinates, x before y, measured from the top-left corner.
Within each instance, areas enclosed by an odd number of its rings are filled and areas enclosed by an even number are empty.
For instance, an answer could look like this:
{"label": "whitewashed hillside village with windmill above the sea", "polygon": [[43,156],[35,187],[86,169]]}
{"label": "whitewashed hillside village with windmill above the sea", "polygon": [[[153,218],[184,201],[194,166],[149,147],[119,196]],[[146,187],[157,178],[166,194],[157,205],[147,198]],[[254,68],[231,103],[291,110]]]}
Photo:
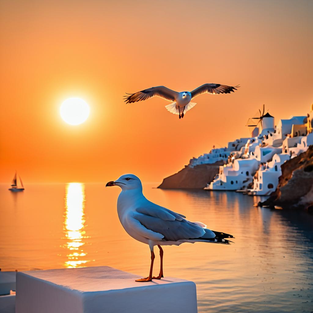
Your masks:
{"label": "whitewashed hillside village with windmill above the sea", "polygon": [[269,195],[278,185],[281,165],[313,145],[313,104],[307,115],[279,120],[276,126],[269,113],[253,119],[258,121],[252,125],[251,137],[230,141],[224,148],[213,147],[209,153],[190,160],[189,167],[225,162],[204,189]]}

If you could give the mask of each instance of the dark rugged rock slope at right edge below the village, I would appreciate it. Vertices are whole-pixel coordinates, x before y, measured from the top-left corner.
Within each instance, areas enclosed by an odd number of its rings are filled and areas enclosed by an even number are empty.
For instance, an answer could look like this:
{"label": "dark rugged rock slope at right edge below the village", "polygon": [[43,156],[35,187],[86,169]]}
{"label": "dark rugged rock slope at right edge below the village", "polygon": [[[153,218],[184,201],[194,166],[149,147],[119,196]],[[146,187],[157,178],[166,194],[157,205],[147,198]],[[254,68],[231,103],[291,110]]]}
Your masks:
{"label": "dark rugged rock slope at right edge below the village", "polygon": [[313,146],[281,166],[278,187],[260,206],[313,211]]}

